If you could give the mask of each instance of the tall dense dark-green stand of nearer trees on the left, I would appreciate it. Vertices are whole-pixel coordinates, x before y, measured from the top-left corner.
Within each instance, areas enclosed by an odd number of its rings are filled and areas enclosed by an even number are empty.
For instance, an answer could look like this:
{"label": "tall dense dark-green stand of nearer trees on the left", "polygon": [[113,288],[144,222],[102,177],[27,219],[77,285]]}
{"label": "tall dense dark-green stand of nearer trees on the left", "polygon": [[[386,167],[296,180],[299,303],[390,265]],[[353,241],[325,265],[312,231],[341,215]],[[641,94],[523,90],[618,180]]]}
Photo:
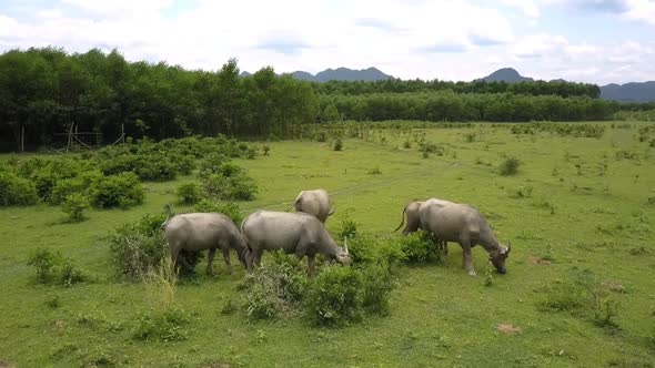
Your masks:
{"label": "tall dense dark-green stand of nearer trees on the left", "polygon": [[190,134],[285,136],[313,122],[319,98],[311,83],[264,68],[240,78],[235,60],[216,72],[165,63],[129,63],[115,50],[68,54],[29,49],[0,55],[0,151],[62,143],[72,123],[88,143],[128,136]]}

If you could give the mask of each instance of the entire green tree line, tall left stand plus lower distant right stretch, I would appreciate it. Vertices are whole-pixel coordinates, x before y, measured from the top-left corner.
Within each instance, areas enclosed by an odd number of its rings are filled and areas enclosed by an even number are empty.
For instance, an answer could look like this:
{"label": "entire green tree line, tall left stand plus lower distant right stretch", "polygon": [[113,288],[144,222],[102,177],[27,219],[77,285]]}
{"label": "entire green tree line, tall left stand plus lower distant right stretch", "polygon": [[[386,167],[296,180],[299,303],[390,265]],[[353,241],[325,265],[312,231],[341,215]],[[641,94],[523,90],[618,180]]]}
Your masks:
{"label": "entire green tree line, tall left stand plus lower distant right stretch", "polygon": [[[117,50],[61,49],[0,54],[0,151],[67,141],[71,126],[88,143],[124,132],[162,140],[223,133],[296,136],[306,123],[341,119],[421,121],[603,120],[621,109],[596,85],[566,82],[401,81],[328,83],[263,68],[240,76],[236,60],[216,71],[164,62],[128,62]],[[634,108],[634,106],[633,106]]]}

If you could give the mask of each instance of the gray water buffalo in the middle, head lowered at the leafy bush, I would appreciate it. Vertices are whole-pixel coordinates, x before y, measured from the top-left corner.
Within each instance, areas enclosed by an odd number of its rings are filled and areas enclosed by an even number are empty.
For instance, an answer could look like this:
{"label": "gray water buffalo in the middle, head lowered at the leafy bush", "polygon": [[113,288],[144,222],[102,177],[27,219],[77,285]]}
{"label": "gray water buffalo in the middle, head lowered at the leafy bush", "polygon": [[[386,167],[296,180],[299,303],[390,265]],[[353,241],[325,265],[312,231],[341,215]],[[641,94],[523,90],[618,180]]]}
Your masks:
{"label": "gray water buffalo in the middle, head lowered at the leafy bush", "polygon": [[282,249],[299,258],[308,256],[310,274],[314,273],[316,254],[324,254],[340,264],[350,264],[347,244],[334,243],[325,226],[306,213],[258,211],[241,223],[241,232],[252,252],[252,260],[261,266],[264,251]]}

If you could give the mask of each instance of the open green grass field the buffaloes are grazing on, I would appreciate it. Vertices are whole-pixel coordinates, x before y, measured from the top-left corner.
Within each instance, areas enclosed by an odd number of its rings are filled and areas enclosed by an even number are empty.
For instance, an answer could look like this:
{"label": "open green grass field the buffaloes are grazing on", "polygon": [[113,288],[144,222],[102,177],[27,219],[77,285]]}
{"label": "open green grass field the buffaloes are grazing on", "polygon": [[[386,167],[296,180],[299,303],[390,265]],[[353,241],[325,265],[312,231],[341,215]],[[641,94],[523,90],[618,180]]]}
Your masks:
{"label": "open green grass field the buffaloes are grazing on", "polygon": [[[240,203],[245,213],[285,211],[301,190],[324,187],[337,208],[331,231],[347,216],[361,231],[389,234],[407,202],[440,197],[474,205],[502,242],[512,242],[507,274],[494,274],[493,285],[484,285],[482,248],[473,249],[478,276],[470,277],[460,246],[451,244],[442,264],[396,269],[389,316],[342,328],[223,315],[244,270],[230,275],[218,257],[213,277],[203,274],[203,263],[196,282],[177,287],[191,318],[188,339],[130,338],[158,292],[117,282],[104,237],[144,213],[160,213],[177,185],[194,177],[147,183],[143,205],[89,211],[79,224],[62,223],[60,209],[48,205],[0,208],[0,360],[17,367],[653,367],[655,149],[636,139],[639,124],[601,124],[607,125],[601,139],[514,135],[490,124],[382,130],[365,141],[344,140],[341,152],[285,141],[270,143],[268,156],[240,160],[260,186],[255,201]],[[422,133],[444,154],[422,157],[413,141]],[[475,133],[473,142],[467,133]],[[521,160],[518,174],[497,173],[505,156]],[[38,285],[26,265],[37,247],[60,251],[98,280]],[[562,299],[558,285],[584,283],[612,300],[618,327],[595,323],[593,305],[543,308]],[[59,307],[47,305],[52,298]],[[520,330],[507,334],[498,325]]]}

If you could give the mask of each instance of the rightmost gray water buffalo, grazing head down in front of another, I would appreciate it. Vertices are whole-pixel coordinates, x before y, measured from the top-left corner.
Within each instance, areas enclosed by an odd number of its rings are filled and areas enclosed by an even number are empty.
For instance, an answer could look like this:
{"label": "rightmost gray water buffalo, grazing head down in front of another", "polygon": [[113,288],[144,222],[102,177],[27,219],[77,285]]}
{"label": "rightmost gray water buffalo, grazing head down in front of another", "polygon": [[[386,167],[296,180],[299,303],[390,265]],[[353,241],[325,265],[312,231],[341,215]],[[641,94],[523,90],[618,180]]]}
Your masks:
{"label": "rightmost gray water buffalo, grazing head down in front of another", "polygon": [[462,246],[462,263],[468,275],[475,276],[471,248],[480,244],[500,274],[505,274],[505,259],[512,249],[503,246],[488,226],[486,218],[470,205],[426,201],[419,209],[421,227],[443,242]]}

